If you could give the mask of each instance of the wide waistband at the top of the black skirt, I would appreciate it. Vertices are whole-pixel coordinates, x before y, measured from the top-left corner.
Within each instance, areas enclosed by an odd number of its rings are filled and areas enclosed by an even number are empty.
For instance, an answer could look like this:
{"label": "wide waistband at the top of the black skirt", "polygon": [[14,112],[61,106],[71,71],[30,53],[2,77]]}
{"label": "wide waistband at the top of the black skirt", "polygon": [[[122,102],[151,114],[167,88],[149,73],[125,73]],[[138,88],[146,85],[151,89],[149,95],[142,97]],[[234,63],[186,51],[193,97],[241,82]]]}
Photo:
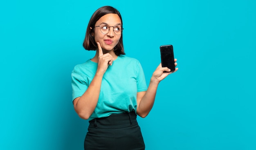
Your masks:
{"label": "wide waistband at the top of the black skirt", "polygon": [[134,111],[130,113],[112,114],[108,117],[95,118],[89,121],[89,128],[125,128],[138,124],[137,115]]}

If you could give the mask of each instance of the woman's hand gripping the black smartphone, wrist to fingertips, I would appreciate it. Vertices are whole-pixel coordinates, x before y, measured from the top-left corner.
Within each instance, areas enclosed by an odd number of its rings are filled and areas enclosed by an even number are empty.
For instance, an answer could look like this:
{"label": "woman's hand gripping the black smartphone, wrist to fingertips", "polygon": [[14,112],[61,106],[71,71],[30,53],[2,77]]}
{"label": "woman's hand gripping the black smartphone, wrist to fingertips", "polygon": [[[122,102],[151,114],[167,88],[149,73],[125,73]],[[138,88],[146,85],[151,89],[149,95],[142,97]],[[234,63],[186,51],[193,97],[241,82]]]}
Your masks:
{"label": "woman's hand gripping the black smartphone, wrist to fingertips", "polygon": [[[174,59],[175,62],[175,67],[177,66],[177,59]],[[178,70],[178,68],[175,68],[176,72]],[[166,71],[166,72],[164,72]],[[162,64],[160,63],[159,66],[156,68],[156,70],[154,71],[152,77],[151,77],[151,81],[152,82],[156,82],[157,84],[162,81],[165,77],[167,77],[168,75],[170,75],[171,73],[174,72],[170,72],[171,69],[167,68],[167,67],[162,67]]]}

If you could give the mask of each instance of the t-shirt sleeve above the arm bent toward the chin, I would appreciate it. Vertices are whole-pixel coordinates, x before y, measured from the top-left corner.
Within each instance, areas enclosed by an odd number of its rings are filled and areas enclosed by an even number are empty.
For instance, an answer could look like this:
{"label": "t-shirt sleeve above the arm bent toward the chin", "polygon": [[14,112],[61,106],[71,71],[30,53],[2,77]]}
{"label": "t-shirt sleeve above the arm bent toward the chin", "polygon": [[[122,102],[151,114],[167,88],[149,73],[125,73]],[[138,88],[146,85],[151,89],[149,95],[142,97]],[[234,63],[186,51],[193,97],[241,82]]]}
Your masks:
{"label": "t-shirt sleeve above the arm bent toward the chin", "polygon": [[71,78],[72,100],[74,100],[77,97],[81,97],[83,93],[85,93],[88,88],[88,83],[86,83],[86,79],[76,71],[72,71]]}

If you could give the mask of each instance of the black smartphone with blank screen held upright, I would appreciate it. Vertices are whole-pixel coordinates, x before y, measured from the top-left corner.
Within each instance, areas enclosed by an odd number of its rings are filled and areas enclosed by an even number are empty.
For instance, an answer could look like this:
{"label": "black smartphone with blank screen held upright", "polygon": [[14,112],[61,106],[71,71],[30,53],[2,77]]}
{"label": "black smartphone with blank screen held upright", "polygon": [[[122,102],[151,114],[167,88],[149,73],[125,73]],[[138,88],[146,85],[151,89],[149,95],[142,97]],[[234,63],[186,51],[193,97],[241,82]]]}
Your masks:
{"label": "black smartphone with blank screen held upright", "polygon": [[175,71],[175,62],[173,55],[173,46],[172,45],[162,45],[160,46],[161,53],[161,62],[162,67],[168,67],[171,69],[171,72]]}

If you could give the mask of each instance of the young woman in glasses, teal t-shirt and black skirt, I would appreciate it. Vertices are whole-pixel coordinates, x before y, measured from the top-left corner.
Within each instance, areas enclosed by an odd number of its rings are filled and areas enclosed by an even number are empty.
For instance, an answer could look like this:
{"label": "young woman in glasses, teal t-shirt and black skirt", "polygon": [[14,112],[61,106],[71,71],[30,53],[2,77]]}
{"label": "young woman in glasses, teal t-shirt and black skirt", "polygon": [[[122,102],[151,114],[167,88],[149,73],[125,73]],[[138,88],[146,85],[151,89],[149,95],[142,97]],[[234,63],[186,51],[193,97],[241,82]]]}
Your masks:
{"label": "young woman in glasses, teal t-shirt and black skirt", "polygon": [[72,71],[74,109],[90,123],[85,150],[144,150],[137,115],[148,115],[159,82],[171,74],[159,64],[147,87],[139,61],[124,56],[122,27],[117,9],[105,6],[95,11],[83,46],[96,54]]}

